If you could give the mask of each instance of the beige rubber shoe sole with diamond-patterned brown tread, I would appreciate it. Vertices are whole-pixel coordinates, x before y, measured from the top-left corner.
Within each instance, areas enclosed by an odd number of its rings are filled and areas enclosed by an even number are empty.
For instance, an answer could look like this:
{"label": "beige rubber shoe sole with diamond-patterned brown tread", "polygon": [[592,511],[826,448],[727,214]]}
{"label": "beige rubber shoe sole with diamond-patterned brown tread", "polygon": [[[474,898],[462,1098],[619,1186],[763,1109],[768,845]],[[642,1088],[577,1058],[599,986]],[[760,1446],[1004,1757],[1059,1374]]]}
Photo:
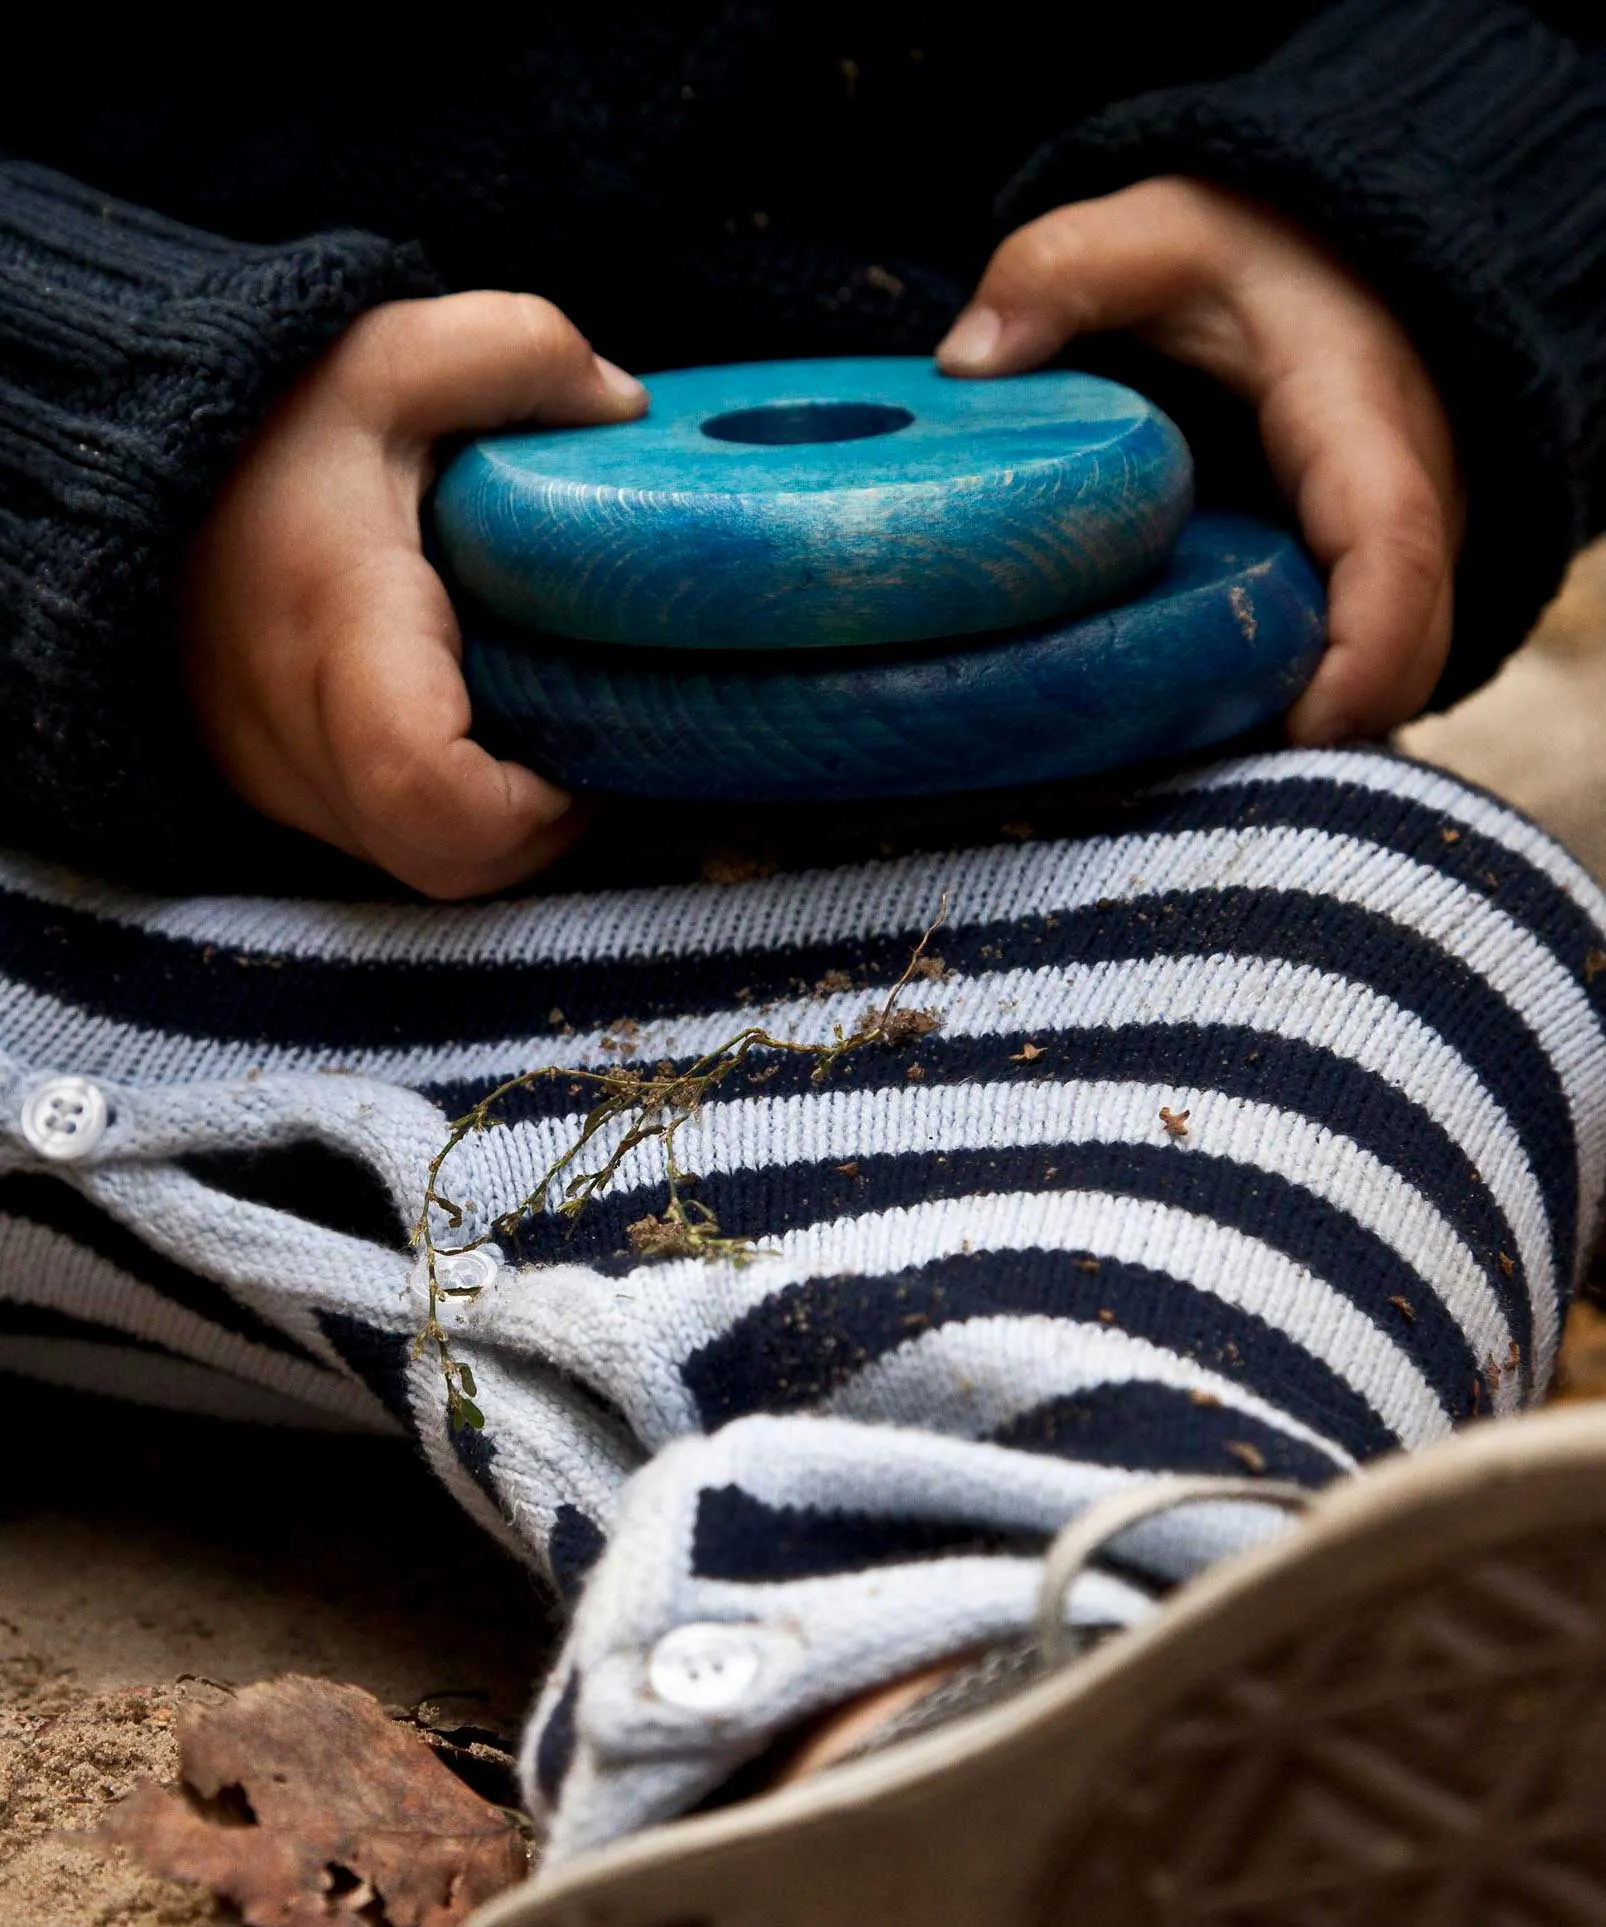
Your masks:
{"label": "beige rubber shoe sole with diamond-patterned brown tread", "polygon": [[1606,1412],[1473,1428],[1020,1698],[470,1927],[1606,1927]]}

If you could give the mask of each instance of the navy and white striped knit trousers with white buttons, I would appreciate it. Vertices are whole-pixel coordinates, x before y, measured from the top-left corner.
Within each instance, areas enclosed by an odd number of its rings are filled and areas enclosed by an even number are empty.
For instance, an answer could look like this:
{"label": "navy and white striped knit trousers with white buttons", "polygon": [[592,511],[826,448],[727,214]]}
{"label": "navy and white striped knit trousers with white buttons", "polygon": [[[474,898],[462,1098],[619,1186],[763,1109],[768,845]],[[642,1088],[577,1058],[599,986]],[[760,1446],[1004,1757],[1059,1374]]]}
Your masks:
{"label": "navy and white striped knit trousers with white buttons", "polygon": [[[939,1027],[819,1083],[760,1054],[681,1133],[756,1256],[630,1251],[648,1145],[573,1229],[457,1260],[486,1426],[451,1432],[407,1241],[447,1120],[756,1017],[829,1039],[945,894],[908,992]],[[573,1601],[526,1744],[555,1858],[1018,1636],[1099,1495],[1321,1484],[1519,1409],[1606,1164],[1606,902],[1386,755],[1222,765],[1078,840],[470,908],[160,902],[8,859],[0,958],[0,1368],[411,1434]],[[48,1156],[62,1075],[110,1122]],[[540,1083],[463,1143],[457,1241],[584,1108]],[[1070,1611],[1141,1619],[1269,1520],[1136,1528]]]}

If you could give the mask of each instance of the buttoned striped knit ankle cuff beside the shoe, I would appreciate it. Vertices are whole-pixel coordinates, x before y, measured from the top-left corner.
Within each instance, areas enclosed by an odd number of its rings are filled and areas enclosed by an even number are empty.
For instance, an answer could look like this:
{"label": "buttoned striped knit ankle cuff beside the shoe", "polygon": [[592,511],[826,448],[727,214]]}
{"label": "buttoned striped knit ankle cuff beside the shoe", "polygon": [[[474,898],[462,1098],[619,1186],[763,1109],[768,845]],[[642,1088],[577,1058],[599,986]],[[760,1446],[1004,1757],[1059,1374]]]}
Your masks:
{"label": "buttoned striped knit ankle cuff beside the shoe", "polygon": [[[1055,1532],[1145,1476],[819,1414],[754,1414],[665,1447],[625,1488],[524,1734],[544,1865],[684,1813],[862,1692],[1028,1636]],[[1068,1619],[1141,1624],[1161,1580],[1278,1524],[1217,1503],[1139,1528],[1120,1574],[1082,1574]]]}

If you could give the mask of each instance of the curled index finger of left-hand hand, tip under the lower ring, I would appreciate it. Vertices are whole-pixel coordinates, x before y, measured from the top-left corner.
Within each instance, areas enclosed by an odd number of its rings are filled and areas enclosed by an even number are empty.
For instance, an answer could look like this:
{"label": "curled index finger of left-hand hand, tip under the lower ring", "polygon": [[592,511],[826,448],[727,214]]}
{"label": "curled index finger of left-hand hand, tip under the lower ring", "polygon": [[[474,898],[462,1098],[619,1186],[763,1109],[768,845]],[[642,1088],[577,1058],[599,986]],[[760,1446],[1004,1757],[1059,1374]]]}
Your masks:
{"label": "curled index finger of left-hand hand, tip under the lower ring", "polygon": [[571,800],[468,738],[468,692],[440,578],[391,555],[341,586],[318,665],[322,790],[345,848],[436,896],[528,875],[573,834]]}

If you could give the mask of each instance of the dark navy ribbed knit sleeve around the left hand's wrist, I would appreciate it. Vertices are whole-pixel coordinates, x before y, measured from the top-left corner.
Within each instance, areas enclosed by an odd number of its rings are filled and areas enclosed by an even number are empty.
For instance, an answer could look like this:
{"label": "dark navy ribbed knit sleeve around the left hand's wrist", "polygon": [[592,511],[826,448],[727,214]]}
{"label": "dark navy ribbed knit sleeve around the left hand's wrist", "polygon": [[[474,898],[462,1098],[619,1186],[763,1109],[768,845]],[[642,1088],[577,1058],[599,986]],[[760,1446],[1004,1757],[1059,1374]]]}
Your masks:
{"label": "dark navy ribbed knit sleeve around the left hand's wrist", "polygon": [[0,168],[0,765],[6,832],[179,877],[249,834],[172,644],[189,538],[285,383],[364,308],[438,291],[416,251],[253,247]]}

